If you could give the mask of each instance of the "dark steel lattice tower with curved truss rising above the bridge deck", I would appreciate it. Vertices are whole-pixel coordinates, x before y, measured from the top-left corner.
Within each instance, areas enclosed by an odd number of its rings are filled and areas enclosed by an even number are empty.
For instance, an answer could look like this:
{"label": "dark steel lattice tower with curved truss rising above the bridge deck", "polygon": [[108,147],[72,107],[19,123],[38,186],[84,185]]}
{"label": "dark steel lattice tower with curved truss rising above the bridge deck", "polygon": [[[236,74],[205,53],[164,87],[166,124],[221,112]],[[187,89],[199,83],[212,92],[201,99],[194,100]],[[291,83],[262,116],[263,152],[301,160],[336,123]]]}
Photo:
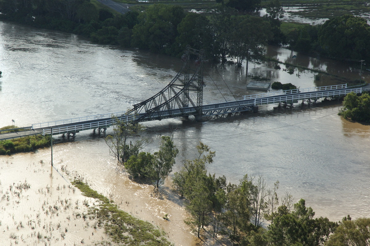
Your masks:
{"label": "dark steel lattice tower with curved truss rising above the bridge deck", "polygon": [[[161,120],[161,115],[171,114],[171,110],[179,109],[182,117],[194,115],[196,120],[201,121],[203,87],[205,86],[203,82],[204,58],[204,50],[199,51],[186,46],[185,53],[181,57],[182,68],[174,79],[151,98],[133,105],[134,108],[126,114],[140,115],[135,117],[136,121]],[[194,93],[189,93],[189,91],[196,91],[196,98],[194,98]],[[196,113],[194,110],[186,110],[189,103],[191,107],[196,108]]]}

